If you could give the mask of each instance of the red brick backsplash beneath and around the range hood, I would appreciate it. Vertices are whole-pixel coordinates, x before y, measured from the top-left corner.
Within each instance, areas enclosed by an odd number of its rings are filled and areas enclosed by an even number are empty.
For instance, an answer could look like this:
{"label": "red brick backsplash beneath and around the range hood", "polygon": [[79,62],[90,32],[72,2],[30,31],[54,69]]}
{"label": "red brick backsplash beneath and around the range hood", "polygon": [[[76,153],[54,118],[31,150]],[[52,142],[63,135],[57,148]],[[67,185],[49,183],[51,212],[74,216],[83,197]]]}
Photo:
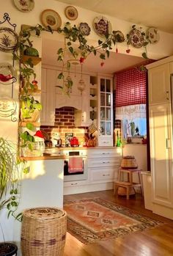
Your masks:
{"label": "red brick backsplash beneath and around the range hood", "polygon": [[73,133],[78,138],[80,145],[84,145],[84,134],[87,133],[87,127],[76,128],[74,125],[75,109],[73,107],[62,107],[55,110],[54,126],[42,125],[40,129],[45,131],[52,138],[54,133],[58,133],[65,144],[65,134]]}

